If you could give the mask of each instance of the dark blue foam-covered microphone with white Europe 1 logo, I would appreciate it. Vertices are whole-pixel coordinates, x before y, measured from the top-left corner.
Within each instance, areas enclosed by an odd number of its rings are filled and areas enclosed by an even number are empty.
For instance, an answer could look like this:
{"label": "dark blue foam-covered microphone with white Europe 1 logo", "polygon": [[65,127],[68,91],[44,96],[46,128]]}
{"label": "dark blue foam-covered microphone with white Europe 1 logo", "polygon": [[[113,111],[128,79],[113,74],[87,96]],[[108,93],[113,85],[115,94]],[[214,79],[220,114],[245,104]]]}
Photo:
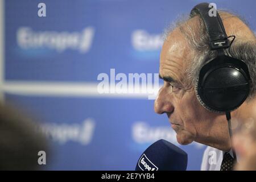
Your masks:
{"label": "dark blue foam-covered microphone with white Europe 1 logo", "polygon": [[151,144],[138,160],[136,171],[185,171],[188,155],[174,144],[160,139]]}

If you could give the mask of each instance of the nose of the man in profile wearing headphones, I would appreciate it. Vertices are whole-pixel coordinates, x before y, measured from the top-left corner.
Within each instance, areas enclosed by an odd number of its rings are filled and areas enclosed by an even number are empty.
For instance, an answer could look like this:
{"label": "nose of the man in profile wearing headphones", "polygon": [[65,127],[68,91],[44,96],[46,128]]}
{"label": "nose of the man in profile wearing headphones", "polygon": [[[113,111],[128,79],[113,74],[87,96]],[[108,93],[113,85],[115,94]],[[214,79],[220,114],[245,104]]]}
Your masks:
{"label": "nose of the man in profile wearing headphones", "polygon": [[172,113],[174,111],[174,105],[171,102],[171,94],[166,92],[167,90],[162,87],[158,92],[158,97],[155,100],[155,113]]}

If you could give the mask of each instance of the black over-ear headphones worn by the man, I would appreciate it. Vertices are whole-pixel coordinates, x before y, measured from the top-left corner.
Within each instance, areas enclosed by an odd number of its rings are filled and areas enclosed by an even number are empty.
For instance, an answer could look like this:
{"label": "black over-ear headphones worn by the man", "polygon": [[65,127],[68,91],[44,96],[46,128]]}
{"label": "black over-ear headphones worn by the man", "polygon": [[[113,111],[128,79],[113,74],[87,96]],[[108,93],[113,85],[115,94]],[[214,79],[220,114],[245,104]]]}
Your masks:
{"label": "black over-ear headphones worn by the man", "polygon": [[209,16],[210,9],[209,3],[200,3],[191,11],[191,15],[196,13],[203,19],[210,50],[218,53],[200,69],[196,96],[205,109],[230,113],[246,100],[250,92],[250,74],[243,60],[224,55],[224,49],[230,47],[230,42],[217,10],[216,16]]}

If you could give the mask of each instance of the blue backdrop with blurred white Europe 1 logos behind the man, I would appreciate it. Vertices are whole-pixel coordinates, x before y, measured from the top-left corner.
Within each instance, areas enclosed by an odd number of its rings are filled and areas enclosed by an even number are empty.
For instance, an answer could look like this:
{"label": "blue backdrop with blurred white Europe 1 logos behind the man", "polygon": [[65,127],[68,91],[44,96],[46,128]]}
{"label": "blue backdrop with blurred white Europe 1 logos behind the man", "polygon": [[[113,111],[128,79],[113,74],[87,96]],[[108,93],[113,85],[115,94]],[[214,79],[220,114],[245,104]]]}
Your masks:
{"label": "blue backdrop with blurred white Europe 1 logos behind the man", "polygon": [[[46,17],[38,4],[46,4]],[[180,146],[154,100],[98,94],[100,73],[158,73],[164,28],[201,1],[8,0],[5,10],[5,100],[36,113],[52,139],[47,169],[133,170],[163,138],[199,170],[205,146]],[[254,0],[213,1],[256,30]]]}

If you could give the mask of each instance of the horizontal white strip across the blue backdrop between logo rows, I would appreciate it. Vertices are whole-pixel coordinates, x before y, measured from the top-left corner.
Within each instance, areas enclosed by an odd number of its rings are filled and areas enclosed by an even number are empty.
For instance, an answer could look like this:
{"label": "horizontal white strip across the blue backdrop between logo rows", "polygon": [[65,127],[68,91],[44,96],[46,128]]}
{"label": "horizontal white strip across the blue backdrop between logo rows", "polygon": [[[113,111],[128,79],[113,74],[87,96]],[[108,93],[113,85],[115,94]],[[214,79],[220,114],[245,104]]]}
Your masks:
{"label": "horizontal white strip across the blue backdrop between logo rows", "polygon": [[55,96],[55,97],[110,97],[110,98],[148,98],[144,93],[99,93],[98,83],[75,82],[23,82],[8,81],[3,85],[5,93],[23,96]]}

